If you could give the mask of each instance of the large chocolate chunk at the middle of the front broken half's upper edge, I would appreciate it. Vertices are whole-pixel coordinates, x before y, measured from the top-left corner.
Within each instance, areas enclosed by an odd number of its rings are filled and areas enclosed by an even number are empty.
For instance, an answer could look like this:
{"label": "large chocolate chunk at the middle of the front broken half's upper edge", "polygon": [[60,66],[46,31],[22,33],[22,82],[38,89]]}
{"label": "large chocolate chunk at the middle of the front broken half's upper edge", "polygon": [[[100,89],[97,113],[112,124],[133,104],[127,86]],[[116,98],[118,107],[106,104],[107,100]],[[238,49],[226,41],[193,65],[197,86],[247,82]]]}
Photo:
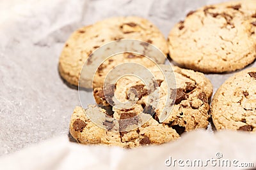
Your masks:
{"label": "large chocolate chunk at the middle of the front broken half's upper edge", "polygon": [[128,125],[138,125],[138,116],[136,113],[121,113],[119,120],[120,131],[125,131]]}

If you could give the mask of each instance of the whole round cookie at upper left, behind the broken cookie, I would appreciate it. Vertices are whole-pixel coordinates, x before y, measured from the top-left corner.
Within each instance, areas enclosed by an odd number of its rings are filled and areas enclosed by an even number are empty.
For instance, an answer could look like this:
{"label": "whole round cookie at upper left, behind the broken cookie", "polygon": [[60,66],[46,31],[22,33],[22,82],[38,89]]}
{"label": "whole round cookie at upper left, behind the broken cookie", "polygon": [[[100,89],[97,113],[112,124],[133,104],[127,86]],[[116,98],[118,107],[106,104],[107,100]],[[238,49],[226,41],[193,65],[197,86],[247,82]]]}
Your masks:
{"label": "whole round cookie at upper left, behind the broken cookie", "polygon": [[[146,41],[159,48],[165,55],[168,53],[167,42],[163,34],[155,25],[140,17],[115,17],[102,20],[93,25],[82,27],[75,31],[65,43],[60,55],[59,71],[61,76],[71,83],[78,85],[79,74],[84,62],[91,57],[93,51],[106,43],[118,39],[138,39]],[[106,60],[95,75],[94,87],[102,87],[104,76],[110,69],[120,62],[133,61],[145,66],[152,66],[145,57],[124,53]],[[157,63],[164,63],[164,59],[155,59]],[[147,64],[148,63],[148,64]],[[90,60],[88,64],[93,64]],[[88,82],[88,83],[87,83]],[[92,88],[92,82],[84,80],[83,87]]]}

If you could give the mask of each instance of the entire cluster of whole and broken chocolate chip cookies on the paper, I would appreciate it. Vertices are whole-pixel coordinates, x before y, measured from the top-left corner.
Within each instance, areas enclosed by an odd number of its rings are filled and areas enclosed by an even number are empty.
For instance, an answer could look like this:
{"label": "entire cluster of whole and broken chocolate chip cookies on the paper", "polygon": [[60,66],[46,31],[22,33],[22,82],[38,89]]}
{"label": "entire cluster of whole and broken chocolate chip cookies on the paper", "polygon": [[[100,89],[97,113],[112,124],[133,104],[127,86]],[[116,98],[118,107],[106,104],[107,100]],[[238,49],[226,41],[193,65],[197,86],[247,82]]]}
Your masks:
{"label": "entire cluster of whole and broken chocolate chip cookies on the paper", "polygon": [[[80,77],[83,67],[93,65],[95,50],[120,39],[154,45],[166,58],[170,55],[177,66],[170,69],[160,56],[148,62],[143,54],[126,52],[102,61],[93,80]],[[211,117],[217,130],[256,131],[256,68],[245,69],[225,81],[211,106],[213,87],[204,75],[243,69],[255,59],[254,0],[191,11],[173,27],[167,41],[154,24],[140,17],[108,18],[78,29],[65,43],[59,71],[68,83],[93,89],[95,104],[74,109],[70,134],[83,144],[134,148],[166,143],[179,139],[182,132],[206,129]],[[154,75],[151,89],[132,75],[104,84],[109,71],[127,62],[147,67]],[[173,75],[172,87],[168,83],[172,78],[165,73]],[[155,94],[157,97],[152,97]],[[120,103],[130,105],[123,107]]]}

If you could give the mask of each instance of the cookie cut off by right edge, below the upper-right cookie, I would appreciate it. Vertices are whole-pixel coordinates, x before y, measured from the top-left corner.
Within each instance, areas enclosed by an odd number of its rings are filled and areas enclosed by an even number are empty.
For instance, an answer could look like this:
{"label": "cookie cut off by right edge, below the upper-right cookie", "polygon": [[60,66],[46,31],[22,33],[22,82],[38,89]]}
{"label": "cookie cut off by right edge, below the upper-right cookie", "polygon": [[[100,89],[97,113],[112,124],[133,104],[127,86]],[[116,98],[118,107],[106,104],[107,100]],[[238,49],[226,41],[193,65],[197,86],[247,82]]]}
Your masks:
{"label": "cookie cut off by right edge, below the upper-right cookie", "polygon": [[228,78],[217,90],[211,104],[217,130],[256,132],[256,68]]}

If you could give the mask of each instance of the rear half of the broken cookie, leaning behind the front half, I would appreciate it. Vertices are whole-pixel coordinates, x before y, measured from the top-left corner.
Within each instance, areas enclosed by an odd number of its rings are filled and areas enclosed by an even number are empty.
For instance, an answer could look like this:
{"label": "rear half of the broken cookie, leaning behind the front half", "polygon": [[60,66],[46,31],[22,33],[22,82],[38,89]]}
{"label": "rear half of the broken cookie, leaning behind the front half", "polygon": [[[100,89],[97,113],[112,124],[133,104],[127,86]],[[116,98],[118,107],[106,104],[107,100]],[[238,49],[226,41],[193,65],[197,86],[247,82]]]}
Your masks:
{"label": "rear half of the broken cookie, leaning behind the front half", "polygon": [[[159,65],[162,71],[169,72],[170,69],[166,65]],[[127,101],[135,101],[136,104],[143,106],[143,113],[148,113],[152,117],[161,122],[163,125],[173,127],[177,132],[191,131],[196,128],[206,128],[209,119],[209,104],[208,99],[212,96],[212,84],[204,74],[188,69],[173,67],[173,76],[175,76],[175,89],[168,87],[166,80],[159,67],[154,66],[149,68],[152,74],[157,78],[158,87],[152,92],[147,90],[147,87],[139,78],[134,76],[124,76],[115,85],[111,85],[113,89],[111,94],[103,94],[100,88],[94,89],[94,96],[98,104],[104,106],[113,106],[113,110],[118,113],[116,100],[123,103]],[[171,74],[172,75],[172,74]],[[133,92],[135,89],[136,92]],[[174,90],[176,93],[173,99],[173,106],[166,103],[168,92]],[[149,96],[158,93],[157,99],[150,99]],[[108,98],[108,100],[106,100]],[[111,101],[111,102],[109,102]],[[157,108],[154,108],[153,103],[158,103]],[[170,105],[170,106],[169,106]],[[164,113],[164,107],[173,107],[168,117],[161,121]],[[141,111],[137,111],[140,113]]]}

